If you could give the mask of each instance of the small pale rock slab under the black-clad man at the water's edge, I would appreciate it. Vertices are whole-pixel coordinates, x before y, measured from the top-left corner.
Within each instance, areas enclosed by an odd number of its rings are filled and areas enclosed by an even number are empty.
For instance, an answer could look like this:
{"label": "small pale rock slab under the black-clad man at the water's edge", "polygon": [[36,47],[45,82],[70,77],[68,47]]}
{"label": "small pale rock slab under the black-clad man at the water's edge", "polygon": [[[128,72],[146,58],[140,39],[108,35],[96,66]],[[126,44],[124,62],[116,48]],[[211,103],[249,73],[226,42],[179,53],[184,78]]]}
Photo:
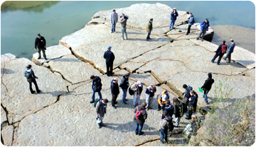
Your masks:
{"label": "small pale rock slab under the black-clad man at the water's edge", "polygon": [[33,54],[31,61],[33,61],[35,64],[39,66],[45,66],[47,68],[50,68],[48,61],[53,59],[58,59],[68,54],[71,54],[70,49],[68,49],[63,45],[55,45],[55,46],[47,47],[46,49],[47,61],[43,58],[43,52],[41,52],[41,59],[38,59],[38,53],[36,52],[35,54]]}

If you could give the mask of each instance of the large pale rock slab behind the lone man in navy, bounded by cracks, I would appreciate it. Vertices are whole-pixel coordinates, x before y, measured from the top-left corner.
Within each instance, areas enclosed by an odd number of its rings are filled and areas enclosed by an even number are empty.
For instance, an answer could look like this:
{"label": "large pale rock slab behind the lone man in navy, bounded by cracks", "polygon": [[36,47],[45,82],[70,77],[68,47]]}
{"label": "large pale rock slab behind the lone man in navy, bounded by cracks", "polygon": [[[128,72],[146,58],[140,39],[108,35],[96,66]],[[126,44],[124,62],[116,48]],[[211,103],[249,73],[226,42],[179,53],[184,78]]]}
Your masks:
{"label": "large pale rock slab behind the lone man in navy, bounded by cracks", "polygon": [[[98,35],[100,33],[100,35]],[[152,40],[146,41],[146,34],[127,29],[128,40],[121,40],[120,32],[110,33],[110,27],[104,24],[89,25],[77,32],[63,37],[60,42],[66,47],[71,47],[79,59],[90,62],[96,69],[106,73],[106,63],[103,55],[107,46],[112,46],[114,53],[114,66],[129,61],[151,49],[165,45],[170,40],[167,37],[152,35]],[[99,42],[100,41],[100,42]]]}

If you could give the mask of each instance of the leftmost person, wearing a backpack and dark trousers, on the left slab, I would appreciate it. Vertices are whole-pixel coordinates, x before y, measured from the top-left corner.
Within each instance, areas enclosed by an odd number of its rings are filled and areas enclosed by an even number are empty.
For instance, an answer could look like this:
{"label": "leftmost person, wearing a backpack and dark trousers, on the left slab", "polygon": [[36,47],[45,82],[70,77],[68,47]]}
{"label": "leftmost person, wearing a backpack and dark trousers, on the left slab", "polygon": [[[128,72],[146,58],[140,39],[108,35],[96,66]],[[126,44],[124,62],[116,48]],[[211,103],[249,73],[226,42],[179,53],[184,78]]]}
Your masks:
{"label": "leftmost person, wearing a backpack and dark trousers, on the left slab", "polygon": [[39,90],[38,85],[36,83],[36,78],[38,78],[37,76],[35,76],[33,70],[31,69],[31,65],[26,66],[26,71],[24,73],[24,76],[27,78],[27,81],[29,83],[29,90],[31,91],[31,94],[35,93],[35,90],[32,89],[32,82],[34,83],[34,85],[36,86],[36,92],[40,93],[41,90]]}

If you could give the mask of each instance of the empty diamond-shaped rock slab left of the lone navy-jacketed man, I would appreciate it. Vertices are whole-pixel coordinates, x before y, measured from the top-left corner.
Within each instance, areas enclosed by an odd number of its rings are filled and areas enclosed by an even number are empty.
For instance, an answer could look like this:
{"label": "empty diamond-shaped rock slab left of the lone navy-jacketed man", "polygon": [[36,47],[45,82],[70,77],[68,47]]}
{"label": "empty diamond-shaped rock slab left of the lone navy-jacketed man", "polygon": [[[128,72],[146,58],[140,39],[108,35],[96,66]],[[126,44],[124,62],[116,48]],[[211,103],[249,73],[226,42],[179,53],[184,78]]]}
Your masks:
{"label": "empty diamond-shaped rock slab left of the lone navy-jacketed man", "polygon": [[102,75],[91,64],[80,61],[73,54],[51,60],[48,64],[51,71],[60,73],[70,83],[90,80],[92,75]]}

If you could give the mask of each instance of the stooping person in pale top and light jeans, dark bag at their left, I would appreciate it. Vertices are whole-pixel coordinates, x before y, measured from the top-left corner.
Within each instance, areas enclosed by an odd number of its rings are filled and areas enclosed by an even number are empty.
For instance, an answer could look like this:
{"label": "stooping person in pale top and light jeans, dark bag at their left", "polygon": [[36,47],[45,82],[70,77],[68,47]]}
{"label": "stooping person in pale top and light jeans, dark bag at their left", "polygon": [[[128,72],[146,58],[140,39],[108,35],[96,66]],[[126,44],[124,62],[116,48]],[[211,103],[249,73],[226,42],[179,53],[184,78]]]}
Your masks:
{"label": "stooping person in pale top and light jeans, dark bag at their left", "polygon": [[132,84],[131,90],[134,91],[133,105],[134,105],[134,107],[136,107],[136,104],[140,105],[139,99],[140,99],[140,95],[142,94],[142,90],[143,90],[142,82],[137,81],[136,83]]}

